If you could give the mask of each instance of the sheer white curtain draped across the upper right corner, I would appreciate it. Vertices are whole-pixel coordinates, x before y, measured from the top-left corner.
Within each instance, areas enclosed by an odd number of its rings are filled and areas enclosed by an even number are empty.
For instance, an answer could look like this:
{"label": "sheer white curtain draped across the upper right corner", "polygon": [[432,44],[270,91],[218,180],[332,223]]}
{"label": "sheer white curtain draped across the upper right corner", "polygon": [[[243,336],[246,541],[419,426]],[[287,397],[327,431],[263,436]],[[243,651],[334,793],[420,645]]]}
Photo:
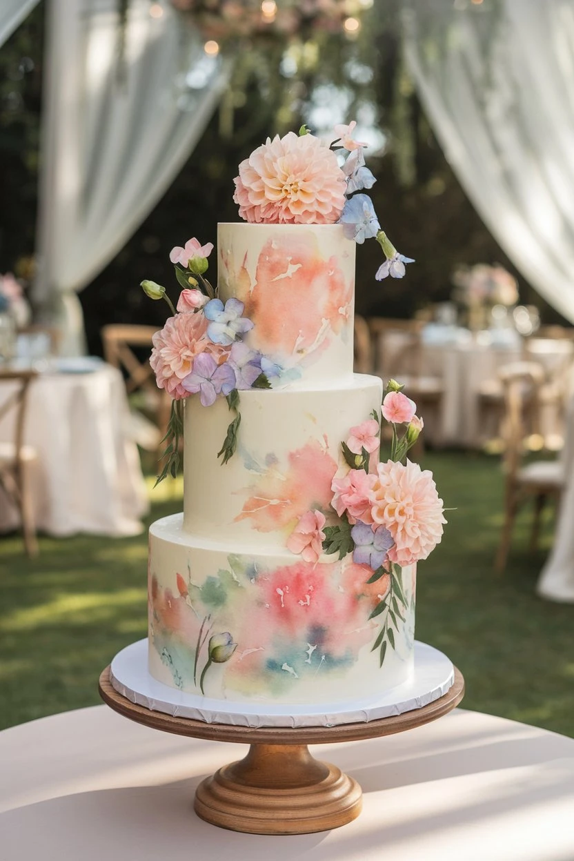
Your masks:
{"label": "sheer white curtain draped across the upper right corner", "polygon": [[410,0],[405,52],[466,194],[574,323],[574,3]]}

